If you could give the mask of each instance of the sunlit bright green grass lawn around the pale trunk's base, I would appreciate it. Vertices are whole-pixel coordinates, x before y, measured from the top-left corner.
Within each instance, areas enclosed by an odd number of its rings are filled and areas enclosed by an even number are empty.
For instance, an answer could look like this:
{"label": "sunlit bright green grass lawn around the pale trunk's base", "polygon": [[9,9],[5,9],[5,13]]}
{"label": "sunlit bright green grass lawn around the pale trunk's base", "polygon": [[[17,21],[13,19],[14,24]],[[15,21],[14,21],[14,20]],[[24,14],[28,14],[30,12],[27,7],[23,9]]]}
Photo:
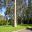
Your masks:
{"label": "sunlit bright green grass lawn around the pale trunk's base", "polygon": [[[17,27],[12,26],[0,26],[0,32],[11,32],[29,27],[29,25],[18,25]],[[30,26],[32,27],[32,25]]]}

